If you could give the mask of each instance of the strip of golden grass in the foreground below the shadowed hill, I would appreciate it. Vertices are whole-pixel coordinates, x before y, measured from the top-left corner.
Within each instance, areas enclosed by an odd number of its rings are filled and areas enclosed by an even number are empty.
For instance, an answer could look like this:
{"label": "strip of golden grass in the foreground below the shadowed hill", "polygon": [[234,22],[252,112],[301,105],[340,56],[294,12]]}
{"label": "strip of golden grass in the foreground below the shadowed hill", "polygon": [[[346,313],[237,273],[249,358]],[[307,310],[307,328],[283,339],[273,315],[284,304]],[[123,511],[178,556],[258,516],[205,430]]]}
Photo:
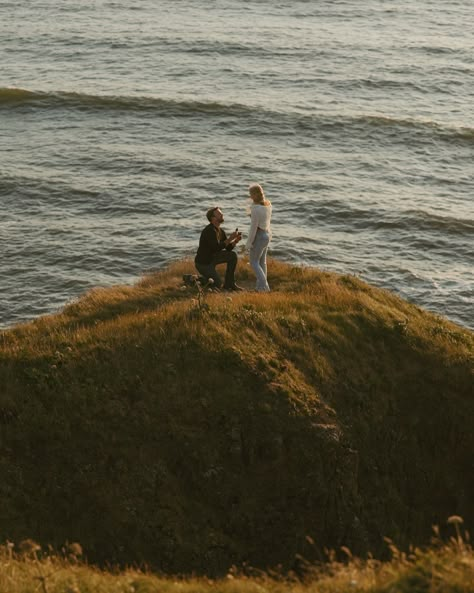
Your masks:
{"label": "strip of golden grass in the foreground below the shadowed hill", "polygon": [[[61,555],[15,554],[0,548],[0,590],[8,593],[472,593],[474,554],[460,538],[436,540],[428,549],[400,552],[388,542],[392,558],[353,558],[307,565],[296,575],[231,569],[220,579],[165,577],[150,571],[100,570],[64,550]],[[40,554],[40,557],[38,557]],[[330,555],[331,556],[331,555]],[[249,574],[250,573],[250,574]]]}

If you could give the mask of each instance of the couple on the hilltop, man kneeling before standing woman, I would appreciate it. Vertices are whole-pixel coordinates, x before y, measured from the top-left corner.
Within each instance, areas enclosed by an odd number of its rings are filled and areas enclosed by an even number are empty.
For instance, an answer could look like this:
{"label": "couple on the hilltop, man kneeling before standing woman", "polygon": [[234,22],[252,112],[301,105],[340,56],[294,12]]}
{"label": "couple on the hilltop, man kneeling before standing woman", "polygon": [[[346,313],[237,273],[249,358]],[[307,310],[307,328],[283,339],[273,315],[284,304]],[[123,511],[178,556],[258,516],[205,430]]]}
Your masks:
{"label": "couple on the hilltop, man kneeling before standing woman", "polygon": [[[251,185],[249,196],[253,204],[250,207],[250,230],[245,248],[249,250],[250,265],[257,276],[256,290],[258,292],[268,292],[270,287],[267,282],[267,249],[271,237],[272,205],[265,198],[261,185]],[[242,233],[235,229],[227,237],[223,229],[221,229],[224,215],[217,206],[210,208],[206,216],[209,224],[202,231],[199,239],[199,248],[194,259],[196,269],[207,280],[212,278],[215,288],[220,289],[222,282],[216,271],[216,266],[225,263],[227,267],[224,290],[242,290],[235,283],[234,273],[237,266],[237,253],[233,251],[234,247],[242,239]]]}

